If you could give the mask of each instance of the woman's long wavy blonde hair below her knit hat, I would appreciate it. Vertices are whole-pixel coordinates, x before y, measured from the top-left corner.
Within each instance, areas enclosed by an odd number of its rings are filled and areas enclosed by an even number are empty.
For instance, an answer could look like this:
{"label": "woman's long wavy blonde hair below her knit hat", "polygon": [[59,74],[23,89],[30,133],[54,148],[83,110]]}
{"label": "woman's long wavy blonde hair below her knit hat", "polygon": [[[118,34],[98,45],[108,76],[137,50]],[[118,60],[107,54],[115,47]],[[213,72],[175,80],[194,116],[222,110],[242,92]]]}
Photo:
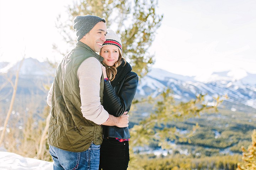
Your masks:
{"label": "woman's long wavy blonde hair below her knit hat", "polygon": [[[122,51],[119,48],[118,50],[119,50],[118,60],[114,63],[113,66],[107,66],[105,63],[102,62],[103,66],[106,67],[107,77],[108,77],[108,80],[110,81],[113,81],[114,78],[116,77],[117,67],[121,65],[122,59],[124,60],[124,65],[126,64],[126,60],[122,55]],[[101,50],[100,50],[100,53],[101,53]]]}

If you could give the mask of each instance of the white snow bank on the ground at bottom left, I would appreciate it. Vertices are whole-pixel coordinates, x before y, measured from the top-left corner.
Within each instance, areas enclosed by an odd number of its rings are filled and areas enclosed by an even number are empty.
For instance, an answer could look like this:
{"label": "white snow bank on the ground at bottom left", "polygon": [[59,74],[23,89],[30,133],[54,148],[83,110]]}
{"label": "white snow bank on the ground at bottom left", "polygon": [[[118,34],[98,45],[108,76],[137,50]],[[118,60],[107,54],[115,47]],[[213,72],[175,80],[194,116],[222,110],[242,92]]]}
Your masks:
{"label": "white snow bank on the ground at bottom left", "polygon": [[0,152],[0,170],[52,170],[53,163],[43,160],[25,158],[21,155]]}

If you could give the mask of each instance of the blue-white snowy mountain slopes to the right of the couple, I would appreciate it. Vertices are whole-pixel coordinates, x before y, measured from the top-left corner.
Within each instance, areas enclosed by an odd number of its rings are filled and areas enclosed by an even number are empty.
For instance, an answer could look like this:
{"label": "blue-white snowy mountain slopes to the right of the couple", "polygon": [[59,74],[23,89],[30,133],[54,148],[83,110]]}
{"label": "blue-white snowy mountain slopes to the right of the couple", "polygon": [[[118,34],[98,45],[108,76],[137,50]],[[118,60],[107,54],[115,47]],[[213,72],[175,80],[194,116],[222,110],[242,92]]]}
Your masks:
{"label": "blue-white snowy mountain slopes to the right of the couple", "polygon": [[228,95],[227,101],[234,103],[234,107],[244,104],[256,108],[256,74],[241,72],[213,73],[199,81],[198,77],[187,77],[153,68],[140,79],[137,95],[156,96],[169,87],[177,100],[187,101],[197,94],[207,94],[206,100],[211,101],[212,97]]}

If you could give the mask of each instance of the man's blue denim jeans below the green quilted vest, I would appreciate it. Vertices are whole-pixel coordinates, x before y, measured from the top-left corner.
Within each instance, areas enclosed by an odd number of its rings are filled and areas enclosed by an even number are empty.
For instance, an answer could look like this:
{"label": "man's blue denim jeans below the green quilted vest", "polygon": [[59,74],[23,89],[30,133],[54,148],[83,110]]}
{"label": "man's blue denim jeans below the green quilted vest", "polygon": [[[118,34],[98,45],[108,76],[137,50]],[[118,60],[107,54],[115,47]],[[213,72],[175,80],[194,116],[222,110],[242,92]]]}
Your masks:
{"label": "man's blue denim jeans below the green quilted vest", "polygon": [[98,170],[100,145],[91,144],[84,152],[69,152],[49,145],[53,158],[53,170]]}

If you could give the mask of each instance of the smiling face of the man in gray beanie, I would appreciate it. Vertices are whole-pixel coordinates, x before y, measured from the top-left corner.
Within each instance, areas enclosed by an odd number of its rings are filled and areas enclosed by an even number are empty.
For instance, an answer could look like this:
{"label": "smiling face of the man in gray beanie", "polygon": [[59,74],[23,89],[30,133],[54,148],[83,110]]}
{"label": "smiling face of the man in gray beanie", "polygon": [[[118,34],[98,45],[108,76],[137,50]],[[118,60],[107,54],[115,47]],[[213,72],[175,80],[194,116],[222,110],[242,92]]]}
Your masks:
{"label": "smiling face of the man in gray beanie", "polygon": [[98,22],[83,38],[84,43],[95,52],[100,52],[102,44],[106,41],[107,26],[105,22]]}

